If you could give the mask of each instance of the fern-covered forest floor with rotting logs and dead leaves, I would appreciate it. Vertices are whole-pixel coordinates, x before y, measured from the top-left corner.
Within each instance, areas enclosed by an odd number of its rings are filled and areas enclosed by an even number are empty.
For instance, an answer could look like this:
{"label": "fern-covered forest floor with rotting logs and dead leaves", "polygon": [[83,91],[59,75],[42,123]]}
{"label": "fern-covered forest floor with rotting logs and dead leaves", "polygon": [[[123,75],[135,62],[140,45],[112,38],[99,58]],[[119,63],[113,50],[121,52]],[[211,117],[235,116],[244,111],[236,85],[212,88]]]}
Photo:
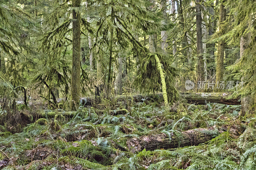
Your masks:
{"label": "fern-covered forest floor with rotting logs and dead leaves", "polygon": [[15,116],[28,122],[0,126],[0,169],[246,169],[255,162],[255,119],[239,117],[240,105],[174,103],[166,112],[138,102],[119,115],[121,108],[18,105]]}

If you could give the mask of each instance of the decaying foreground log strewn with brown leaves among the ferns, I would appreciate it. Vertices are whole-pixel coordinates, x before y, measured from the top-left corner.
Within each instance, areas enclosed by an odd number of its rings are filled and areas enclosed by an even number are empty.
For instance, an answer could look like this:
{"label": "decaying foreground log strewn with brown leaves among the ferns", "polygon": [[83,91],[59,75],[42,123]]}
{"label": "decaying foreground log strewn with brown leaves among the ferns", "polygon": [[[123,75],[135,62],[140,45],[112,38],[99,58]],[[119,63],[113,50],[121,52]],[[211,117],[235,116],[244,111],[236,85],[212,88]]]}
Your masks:
{"label": "decaying foreground log strewn with brown leaves among the ferns", "polygon": [[[181,132],[183,135],[183,140],[172,136],[171,139],[164,133],[159,135],[151,135],[151,136],[142,136],[140,138],[132,138],[127,141],[128,148],[131,149],[132,152],[140,152],[143,149],[154,151],[156,149],[170,149],[184,146],[194,146],[205,143],[213,138],[213,135],[204,134],[204,128],[193,129]],[[180,142],[180,144],[179,144]]]}

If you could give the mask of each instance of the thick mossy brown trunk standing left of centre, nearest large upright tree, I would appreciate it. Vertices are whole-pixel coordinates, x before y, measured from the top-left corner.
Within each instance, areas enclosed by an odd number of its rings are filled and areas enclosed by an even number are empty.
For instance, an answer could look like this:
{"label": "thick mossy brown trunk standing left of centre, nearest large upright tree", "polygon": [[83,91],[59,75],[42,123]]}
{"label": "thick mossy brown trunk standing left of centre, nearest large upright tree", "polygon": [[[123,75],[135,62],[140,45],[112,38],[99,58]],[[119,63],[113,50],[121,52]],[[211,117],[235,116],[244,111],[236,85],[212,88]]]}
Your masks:
{"label": "thick mossy brown trunk standing left of centre, nearest large upright tree", "polygon": [[[73,0],[73,7],[80,7],[81,0]],[[80,99],[80,12],[73,10],[73,54],[72,54],[72,75],[71,75],[71,109],[79,107]]]}

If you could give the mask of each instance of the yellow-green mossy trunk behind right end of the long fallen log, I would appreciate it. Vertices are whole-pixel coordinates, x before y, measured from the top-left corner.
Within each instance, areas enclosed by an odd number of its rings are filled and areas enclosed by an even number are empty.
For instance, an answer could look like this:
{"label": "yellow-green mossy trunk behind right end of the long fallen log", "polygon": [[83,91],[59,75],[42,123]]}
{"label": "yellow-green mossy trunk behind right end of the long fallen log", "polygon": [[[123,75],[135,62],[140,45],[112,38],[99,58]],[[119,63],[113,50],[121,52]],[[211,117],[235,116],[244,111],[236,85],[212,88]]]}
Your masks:
{"label": "yellow-green mossy trunk behind right end of the long fallen log", "polygon": [[[219,12],[219,36],[224,35],[225,27],[224,21],[226,20],[226,9],[224,7],[223,2],[220,4],[220,12]],[[217,65],[216,65],[216,82],[223,81],[224,74],[224,48],[225,48],[225,40],[220,40],[218,42],[218,54],[217,54]]]}

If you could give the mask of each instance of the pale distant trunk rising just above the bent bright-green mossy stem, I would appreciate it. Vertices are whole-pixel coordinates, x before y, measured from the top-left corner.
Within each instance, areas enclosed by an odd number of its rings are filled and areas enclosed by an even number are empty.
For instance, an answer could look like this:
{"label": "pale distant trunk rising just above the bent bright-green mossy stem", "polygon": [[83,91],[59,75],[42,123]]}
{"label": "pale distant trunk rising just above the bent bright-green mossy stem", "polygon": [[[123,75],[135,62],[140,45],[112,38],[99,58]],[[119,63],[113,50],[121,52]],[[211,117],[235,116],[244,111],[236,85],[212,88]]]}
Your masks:
{"label": "pale distant trunk rising just above the bent bright-green mossy stem", "polygon": [[[163,16],[164,16],[163,25],[166,25],[166,19],[167,19],[166,0],[161,1],[161,6],[162,6],[162,12],[163,12]],[[166,54],[167,53],[166,49],[168,47],[167,31],[161,31],[161,38],[162,38],[161,48],[164,51],[164,53]]]}

